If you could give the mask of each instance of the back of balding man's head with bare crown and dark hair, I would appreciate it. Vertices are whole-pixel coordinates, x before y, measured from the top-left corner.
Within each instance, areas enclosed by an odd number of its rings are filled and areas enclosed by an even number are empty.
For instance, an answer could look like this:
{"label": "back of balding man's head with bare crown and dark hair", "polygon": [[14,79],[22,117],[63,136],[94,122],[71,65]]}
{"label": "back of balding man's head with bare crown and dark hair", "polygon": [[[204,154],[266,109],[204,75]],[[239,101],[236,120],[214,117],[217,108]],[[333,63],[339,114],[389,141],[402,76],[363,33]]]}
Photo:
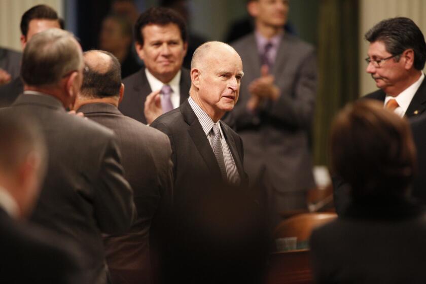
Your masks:
{"label": "back of balding man's head with bare crown and dark hair", "polygon": [[121,67],[117,57],[107,51],[91,50],[84,53],[84,63],[80,95],[86,98],[119,96]]}

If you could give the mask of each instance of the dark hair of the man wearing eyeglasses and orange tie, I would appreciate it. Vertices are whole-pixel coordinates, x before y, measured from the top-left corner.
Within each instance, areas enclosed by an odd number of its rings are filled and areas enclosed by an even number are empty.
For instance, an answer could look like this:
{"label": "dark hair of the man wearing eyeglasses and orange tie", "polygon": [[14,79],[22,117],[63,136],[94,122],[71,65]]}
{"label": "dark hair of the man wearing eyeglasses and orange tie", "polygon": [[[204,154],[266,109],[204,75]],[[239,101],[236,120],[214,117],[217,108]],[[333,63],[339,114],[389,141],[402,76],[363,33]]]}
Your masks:
{"label": "dark hair of the man wearing eyeglasses and orange tie", "polygon": [[426,61],[426,43],[423,33],[409,18],[397,17],[382,20],[365,34],[370,43],[381,41],[386,51],[399,55],[406,49],[414,51],[414,68],[422,70]]}

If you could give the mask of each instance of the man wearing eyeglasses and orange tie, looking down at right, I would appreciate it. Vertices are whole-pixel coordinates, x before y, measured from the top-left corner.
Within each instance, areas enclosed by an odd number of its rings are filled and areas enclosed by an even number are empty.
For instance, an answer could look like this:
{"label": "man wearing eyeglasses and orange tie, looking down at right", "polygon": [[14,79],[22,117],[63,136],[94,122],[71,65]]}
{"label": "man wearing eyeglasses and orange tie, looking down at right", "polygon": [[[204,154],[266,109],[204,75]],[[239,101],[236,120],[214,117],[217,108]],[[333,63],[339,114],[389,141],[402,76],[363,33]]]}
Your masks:
{"label": "man wearing eyeglasses and orange tie, looking down at right", "polygon": [[366,98],[383,101],[384,106],[403,117],[426,109],[426,83],[421,71],[426,61],[426,44],[418,26],[404,17],[379,22],[366,34],[367,73],[380,88]]}

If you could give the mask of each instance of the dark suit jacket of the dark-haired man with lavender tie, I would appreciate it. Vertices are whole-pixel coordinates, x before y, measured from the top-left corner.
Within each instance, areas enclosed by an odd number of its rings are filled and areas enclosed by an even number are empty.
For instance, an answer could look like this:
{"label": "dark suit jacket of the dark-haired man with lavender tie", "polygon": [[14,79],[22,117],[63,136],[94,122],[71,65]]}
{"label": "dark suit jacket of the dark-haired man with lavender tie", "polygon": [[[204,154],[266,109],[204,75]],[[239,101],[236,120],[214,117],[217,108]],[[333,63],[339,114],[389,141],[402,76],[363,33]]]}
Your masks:
{"label": "dark suit jacket of the dark-haired man with lavender tie", "polygon": [[[141,68],[138,72],[123,80],[125,91],[124,97],[119,105],[119,110],[125,115],[129,116],[141,123],[147,123],[144,114],[144,104],[147,96],[153,91],[151,90],[147,76],[145,75],[145,68]],[[189,96],[189,89],[191,87],[191,78],[189,70],[182,68],[181,82],[180,82],[180,96],[181,104]]]}

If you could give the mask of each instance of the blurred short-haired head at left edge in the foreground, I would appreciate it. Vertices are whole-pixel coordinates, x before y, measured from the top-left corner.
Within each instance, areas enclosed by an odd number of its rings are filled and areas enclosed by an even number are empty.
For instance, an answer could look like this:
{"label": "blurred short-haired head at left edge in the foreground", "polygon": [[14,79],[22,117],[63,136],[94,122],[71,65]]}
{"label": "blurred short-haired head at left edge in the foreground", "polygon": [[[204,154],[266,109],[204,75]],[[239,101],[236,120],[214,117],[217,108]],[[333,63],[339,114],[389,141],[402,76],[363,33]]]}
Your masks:
{"label": "blurred short-haired head at left edge in the foreground", "polygon": [[46,169],[46,149],[38,125],[21,115],[0,114],[0,190],[15,201],[9,214],[25,217],[37,201]]}

